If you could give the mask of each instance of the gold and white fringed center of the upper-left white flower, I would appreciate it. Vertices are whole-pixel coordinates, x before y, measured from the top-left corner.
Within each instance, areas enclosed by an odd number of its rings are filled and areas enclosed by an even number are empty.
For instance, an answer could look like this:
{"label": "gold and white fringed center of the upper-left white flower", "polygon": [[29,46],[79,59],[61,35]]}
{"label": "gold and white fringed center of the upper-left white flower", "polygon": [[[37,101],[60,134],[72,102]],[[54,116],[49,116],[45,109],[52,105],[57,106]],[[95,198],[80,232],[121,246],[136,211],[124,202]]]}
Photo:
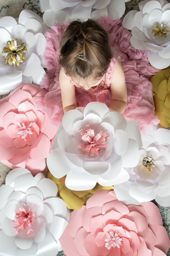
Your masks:
{"label": "gold and white fringed center of the upper-left white flower", "polygon": [[2,55],[9,65],[16,64],[19,66],[20,62],[26,58],[24,52],[27,51],[24,43],[18,44],[17,39],[12,39],[7,42],[7,46],[4,46]]}

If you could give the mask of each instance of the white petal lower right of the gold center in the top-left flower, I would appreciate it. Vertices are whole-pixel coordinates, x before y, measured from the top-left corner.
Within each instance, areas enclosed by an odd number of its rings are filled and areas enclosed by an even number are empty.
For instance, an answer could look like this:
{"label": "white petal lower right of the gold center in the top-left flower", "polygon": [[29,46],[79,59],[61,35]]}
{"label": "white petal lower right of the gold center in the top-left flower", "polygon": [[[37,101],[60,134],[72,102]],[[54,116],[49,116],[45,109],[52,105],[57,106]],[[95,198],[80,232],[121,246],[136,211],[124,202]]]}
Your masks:
{"label": "white petal lower right of the gold center in the top-left flower", "polygon": [[31,57],[25,65],[26,67],[23,71],[23,75],[26,77],[32,77],[40,71],[41,61],[36,54],[32,53]]}

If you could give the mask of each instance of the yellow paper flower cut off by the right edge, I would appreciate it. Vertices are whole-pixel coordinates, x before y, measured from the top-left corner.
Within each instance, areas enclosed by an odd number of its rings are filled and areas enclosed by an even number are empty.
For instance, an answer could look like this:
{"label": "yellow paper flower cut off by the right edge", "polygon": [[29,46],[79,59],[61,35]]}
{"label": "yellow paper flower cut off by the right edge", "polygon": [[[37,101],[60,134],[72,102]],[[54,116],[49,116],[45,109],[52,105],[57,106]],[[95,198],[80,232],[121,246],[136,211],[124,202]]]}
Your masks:
{"label": "yellow paper flower cut off by the right edge", "polygon": [[155,115],[160,119],[160,126],[170,127],[170,66],[158,72],[152,79]]}

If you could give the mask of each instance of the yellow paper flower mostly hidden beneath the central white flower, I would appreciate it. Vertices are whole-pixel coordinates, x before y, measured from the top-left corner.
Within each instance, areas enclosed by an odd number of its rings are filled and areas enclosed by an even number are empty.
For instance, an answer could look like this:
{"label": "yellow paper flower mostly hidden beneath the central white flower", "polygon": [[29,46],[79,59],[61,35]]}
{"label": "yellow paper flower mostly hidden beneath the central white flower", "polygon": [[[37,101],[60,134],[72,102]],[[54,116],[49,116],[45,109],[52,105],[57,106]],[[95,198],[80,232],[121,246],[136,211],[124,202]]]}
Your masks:
{"label": "yellow paper flower mostly hidden beneath the central white flower", "polygon": [[85,191],[74,191],[65,186],[66,176],[57,179],[55,178],[50,171],[47,172],[47,178],[53,180],[58,187],[58,193],[60,198],[64,200],[68,209],[78,210],[83,205],[86,205],[87,200],[95,193],[103,190],[113,190],[113,186],[103,187],[100,184],[96,184],[93,189]]}

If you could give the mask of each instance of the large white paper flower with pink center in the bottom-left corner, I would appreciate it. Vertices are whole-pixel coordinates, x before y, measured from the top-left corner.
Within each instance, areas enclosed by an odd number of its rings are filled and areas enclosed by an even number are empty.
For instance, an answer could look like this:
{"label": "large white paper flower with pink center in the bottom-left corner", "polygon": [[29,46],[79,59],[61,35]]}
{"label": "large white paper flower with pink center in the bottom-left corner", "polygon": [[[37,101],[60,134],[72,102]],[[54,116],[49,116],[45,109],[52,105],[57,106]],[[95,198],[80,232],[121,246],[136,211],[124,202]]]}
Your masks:
{"label": "large white paper flower with pink center in the bottom-left corner", "polygon": [[9,172],[0,187],[0,255],[56,256],[62,250],[58,240],[70,212],[57,191],[42,173]]}

